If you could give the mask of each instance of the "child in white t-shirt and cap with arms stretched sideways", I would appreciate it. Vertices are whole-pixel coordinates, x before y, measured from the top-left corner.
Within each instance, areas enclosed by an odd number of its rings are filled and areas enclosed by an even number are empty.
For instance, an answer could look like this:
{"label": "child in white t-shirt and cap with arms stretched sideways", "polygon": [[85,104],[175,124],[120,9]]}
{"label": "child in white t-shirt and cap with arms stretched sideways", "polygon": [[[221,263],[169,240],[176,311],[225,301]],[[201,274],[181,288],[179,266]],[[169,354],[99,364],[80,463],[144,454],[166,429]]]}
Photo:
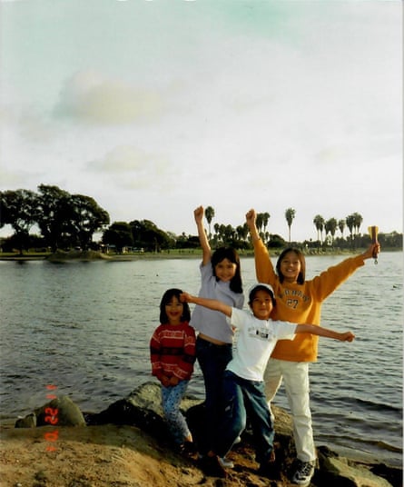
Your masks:
{"label": "child in white t-shirt and cap with arms stretched sideways", "polygon": [[247,411],[255,439],[259,472],[271,475],[274,462],[271,412],[265,397],[263,373],[278,340],[293,340],[295,333],[312,333],[341,342],[352,342],[353,333],[337,333],[313,324],[296,324],[271,320],[276,304],[271,286],[256,283],[249,293],[250,311],[239,310],[217,300],[181,294],[186,303],[199,304],[227,316],[229,326],[238,329],[233,358],[223,379],[223,413],[220,434],[209,456],[221,467],[232,467],[226,454],[246,427]]}

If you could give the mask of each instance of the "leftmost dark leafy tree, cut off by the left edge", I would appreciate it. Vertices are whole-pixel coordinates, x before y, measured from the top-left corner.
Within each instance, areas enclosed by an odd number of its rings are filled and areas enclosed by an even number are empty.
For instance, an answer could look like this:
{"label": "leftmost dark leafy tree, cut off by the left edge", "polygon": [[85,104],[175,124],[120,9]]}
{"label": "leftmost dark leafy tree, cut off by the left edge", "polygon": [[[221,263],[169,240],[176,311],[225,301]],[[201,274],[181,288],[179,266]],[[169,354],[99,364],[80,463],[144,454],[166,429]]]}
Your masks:
{"label": "leftmost dark leafy tree, cut off by the left edge", "polygon": [[38,218],[37,194],[26,189],[0,193],[1,225],[15,231],[14,244],[20,253],[29,244],[29,231]]}

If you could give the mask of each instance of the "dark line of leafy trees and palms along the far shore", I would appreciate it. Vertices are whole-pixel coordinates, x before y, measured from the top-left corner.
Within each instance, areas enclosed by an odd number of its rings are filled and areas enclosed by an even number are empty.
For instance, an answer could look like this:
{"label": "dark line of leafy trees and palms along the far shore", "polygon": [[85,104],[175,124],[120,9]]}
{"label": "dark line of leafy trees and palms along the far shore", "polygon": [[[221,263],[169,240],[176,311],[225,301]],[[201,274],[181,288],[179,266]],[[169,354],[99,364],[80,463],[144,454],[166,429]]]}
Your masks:
{"label": "dark line of leafy trees and palms along the far shore", "polygon": [[[239,250],[251,249],[247,224],[235,228],[230,224],[212,224],[215,215],[212,206],[207,206],[204,213],[213,248],[228,245]],[[317,250],[330,247],[352,249],[365,247],[370,243],[368,234],[360,234],[363,218],[359,213],[349,214],[340,220],[325,220],[320,214],[315,215],[313,224],[318,234],[317,241],[310,239],[303,243],[291,241],[291,226],[296,211],[288,208],[284,216],[289,229],[289,243],[279,234],[269,233],[271,214],[257,214],[257,228],[263,242],[269,247],[281,248],[295,244]],[[197,236],[164,232],[150,220],[110,224],[110,215],[94,198],[84,194],[69,194],[54,185],[40,184],[37,193],[25,189],[0,192],[0,228],[5,224],[14,229],[14,234],[3,240],[3,250],[17,249],[20,253],[30,248],[50,248],[52,252],[75,247],[83,250],[98,249],[100,244],[93,242],[95,233],[102,233],[102,247],[113,248],[117,253],[122,253],[123,249],[160,252],[200,246]],[[39,235],[30,233],[34,226],[39,229]],[[345,237],[346,230],[349,234]],[[384,247],[402,248],[402,234],[379,234],[379,242]]]}

